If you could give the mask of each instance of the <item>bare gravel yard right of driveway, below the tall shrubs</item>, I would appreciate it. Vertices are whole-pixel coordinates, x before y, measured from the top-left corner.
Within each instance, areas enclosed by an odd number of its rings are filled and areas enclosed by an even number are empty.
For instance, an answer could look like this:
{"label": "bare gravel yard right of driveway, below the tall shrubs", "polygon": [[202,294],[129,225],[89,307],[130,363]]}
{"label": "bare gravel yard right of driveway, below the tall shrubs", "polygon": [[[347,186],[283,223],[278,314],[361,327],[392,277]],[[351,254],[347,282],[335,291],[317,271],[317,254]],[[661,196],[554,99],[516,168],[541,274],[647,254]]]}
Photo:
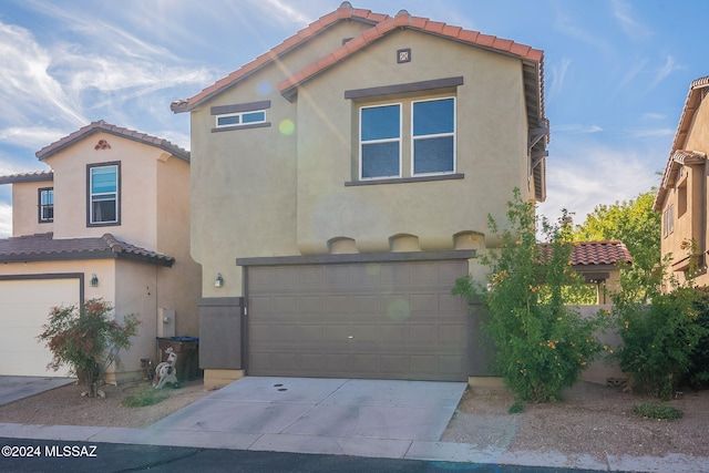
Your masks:
{"label": "bare gravel yard right of driveway, below the tall shrubs", "polygon": [[587,453],[598,460],[668,453],[709,457],[709,391],[669,401],[684,412],[675,421],[637,417],[633,405],[655,400],[588,382],[567,390],[563,402],[525,404],[518,414],[507,413],[513,401],[504,389],[469,388],[441,440],[481,449]]}

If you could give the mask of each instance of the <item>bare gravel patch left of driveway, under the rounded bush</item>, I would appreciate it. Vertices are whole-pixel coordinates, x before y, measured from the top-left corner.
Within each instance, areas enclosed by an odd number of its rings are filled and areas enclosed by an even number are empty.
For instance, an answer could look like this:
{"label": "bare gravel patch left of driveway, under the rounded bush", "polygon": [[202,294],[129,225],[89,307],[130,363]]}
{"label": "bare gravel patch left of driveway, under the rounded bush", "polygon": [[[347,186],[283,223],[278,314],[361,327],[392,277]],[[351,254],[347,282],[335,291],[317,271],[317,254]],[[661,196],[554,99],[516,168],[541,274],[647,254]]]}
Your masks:
{"label": "bare gravel patch left of driveway, under the rounded bush", "polygon": [[125,408],[121,400],[147,385],[136,381],[99,387],[105,398],[81,395],[85,385],[69,384],[0,405],[0,422],[40,425],[95,425],[146,428],[208,394],[202,380],[182,382],[179,389],[163,388],[168,398],[158,404]]}

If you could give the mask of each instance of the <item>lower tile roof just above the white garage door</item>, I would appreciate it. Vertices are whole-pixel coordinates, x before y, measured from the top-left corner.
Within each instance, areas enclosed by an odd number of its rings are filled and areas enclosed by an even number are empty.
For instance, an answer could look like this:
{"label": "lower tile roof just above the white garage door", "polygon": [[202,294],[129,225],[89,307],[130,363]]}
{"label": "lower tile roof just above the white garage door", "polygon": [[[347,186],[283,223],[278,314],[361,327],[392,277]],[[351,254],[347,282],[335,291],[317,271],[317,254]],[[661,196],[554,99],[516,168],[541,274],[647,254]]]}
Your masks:
{"label": "lower tile roof just above the white garage door", "polygon": [[59,238],[35,234],[0,239],[0,263],[76,259],[129,259],[157,266],[172,266],[175,258],[122,241],[111,234],[101,237]]}

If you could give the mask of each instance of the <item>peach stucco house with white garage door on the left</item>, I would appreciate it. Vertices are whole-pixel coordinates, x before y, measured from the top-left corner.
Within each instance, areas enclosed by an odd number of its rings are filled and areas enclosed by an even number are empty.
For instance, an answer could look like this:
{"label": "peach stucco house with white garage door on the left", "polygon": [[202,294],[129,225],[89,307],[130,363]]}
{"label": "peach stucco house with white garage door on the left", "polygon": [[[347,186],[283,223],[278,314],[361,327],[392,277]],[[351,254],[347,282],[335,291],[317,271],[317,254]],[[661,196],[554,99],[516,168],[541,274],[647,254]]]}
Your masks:
{"label": "peach stucco house with white garage door on the left", "polygon": [[109,381],[140,378],[141,358],[156,361],[156,336],[198,335],[189,152],[99,121],[37,157],[51,171],[0,177],[12,184],[12,237],[0,239],[0,374],[54,374],[37,340],[50,309],[100,297],[119,321],[141,320]]}

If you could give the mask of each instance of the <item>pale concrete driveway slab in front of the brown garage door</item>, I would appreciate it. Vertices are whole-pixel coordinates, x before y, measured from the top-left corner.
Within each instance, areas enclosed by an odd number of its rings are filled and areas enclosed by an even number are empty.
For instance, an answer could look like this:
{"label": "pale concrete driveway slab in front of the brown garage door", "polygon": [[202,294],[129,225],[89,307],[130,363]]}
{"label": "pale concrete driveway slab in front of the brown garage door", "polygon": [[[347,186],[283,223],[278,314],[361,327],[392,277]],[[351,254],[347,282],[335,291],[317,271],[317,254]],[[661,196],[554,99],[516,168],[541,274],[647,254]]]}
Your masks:
{"label": "pale concrete driveway slab in front of the brown garage door", "polygon": [[[246,377],[151,425],[245,450],[379,456],[436,442],[466,383]],[[156,440],[156,439],[154,439]],[[216,445],[215,445],[216,446]]]}

